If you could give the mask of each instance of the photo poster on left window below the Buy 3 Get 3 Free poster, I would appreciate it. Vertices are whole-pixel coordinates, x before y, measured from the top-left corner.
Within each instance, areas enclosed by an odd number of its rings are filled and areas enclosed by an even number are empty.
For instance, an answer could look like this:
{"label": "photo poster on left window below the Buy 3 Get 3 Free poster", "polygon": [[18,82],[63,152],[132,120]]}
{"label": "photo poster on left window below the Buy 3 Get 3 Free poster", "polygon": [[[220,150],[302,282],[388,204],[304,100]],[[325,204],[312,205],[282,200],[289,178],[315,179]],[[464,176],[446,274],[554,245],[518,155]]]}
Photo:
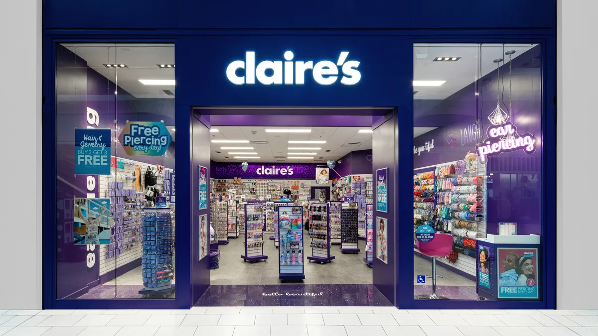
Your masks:
{"label": "photo poster on left window below the Buy 3 Get 3 Free poster", "polygon": [[110,231],[109,198],[75,198],[75,245],[108,245],[111,240]]}

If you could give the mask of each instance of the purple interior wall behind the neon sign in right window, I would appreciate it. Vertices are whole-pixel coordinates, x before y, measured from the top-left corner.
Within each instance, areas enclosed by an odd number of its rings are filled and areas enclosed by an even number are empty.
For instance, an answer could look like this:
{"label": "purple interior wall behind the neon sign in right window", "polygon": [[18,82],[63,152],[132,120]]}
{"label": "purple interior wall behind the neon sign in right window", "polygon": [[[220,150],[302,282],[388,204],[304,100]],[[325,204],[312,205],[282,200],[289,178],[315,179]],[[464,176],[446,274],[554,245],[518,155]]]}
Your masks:
{"label": "purple interior wall behind the neon sign in right window", "polygon": [[[487,233],[498,234],[499,222],[518,222],[518,234],[541,234],[542,68],[541,49],[534,47],[512,61],[512,122],[519,134],[532,133],[533,154],[514,151],[490,157],[486,166]],[[501,108],[508,109],[508,63],[501,67]],[[488,116],[496,108],[496,71],[441,101],[414,100],[414,126],[438,127],[413,139],[414,146],[434,140],[434,148],[414,154],[414,168],[462,160],[487,138]],[[501,92],[502,93],[502,92]],[[478,108],[476,108],[476,105]],[[480,129],[476,130],[476,115]],[[452,140],[452,139],[454,140]]]}

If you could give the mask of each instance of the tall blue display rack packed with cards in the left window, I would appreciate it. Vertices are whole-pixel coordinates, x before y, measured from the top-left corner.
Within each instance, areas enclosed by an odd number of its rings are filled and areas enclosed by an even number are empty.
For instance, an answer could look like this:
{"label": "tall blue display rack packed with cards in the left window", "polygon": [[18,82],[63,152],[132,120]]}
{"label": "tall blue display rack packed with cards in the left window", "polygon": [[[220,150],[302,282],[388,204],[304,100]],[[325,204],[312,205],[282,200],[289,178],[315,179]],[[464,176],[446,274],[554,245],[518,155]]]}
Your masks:
{"label": "tall blue display rack packed with cards in the left window", "polygon": [[146,207],[141,213],[143,255],[141,271],[144,289],[139,294],[169,294],[172,283],[172,221],[169,207]]}

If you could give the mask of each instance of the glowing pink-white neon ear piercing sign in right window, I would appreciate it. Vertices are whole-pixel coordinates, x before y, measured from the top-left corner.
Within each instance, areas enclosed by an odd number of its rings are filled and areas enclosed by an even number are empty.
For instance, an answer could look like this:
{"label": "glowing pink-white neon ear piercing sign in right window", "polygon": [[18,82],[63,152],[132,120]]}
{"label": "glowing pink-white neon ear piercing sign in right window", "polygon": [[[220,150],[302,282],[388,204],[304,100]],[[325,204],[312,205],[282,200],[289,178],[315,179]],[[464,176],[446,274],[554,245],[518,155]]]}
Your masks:
{"label": "glowing pink-white neon ear piercing sign in right window", "polygon": [[501,125],[492,125],[486,132],[488,138],[478,145],[478,161],[487,163],[488,157],[505,152],[523,149],[526,154],[536,151],[536,138],[530,133],[519,135],[517,127],[510,121]]}

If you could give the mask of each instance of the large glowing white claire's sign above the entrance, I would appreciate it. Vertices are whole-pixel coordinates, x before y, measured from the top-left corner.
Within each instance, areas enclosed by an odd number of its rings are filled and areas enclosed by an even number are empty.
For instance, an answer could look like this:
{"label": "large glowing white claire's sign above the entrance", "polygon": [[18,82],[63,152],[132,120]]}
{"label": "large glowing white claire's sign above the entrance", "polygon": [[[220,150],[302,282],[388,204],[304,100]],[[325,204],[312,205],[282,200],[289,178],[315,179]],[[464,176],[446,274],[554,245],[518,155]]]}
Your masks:
{"label": "large glowing white claire's sign above the entrance", "polygon": [[[263,60],[255,65],[255,51],[247,51],[245,60],[231,62],[226,68],[226,77],[237,85],[255,84],[264,85],[303,85],[307,71],[311,71],[313,80],[320,85],[331,85],[341,77],[340,83],[355,85],[361,80],[361,72],[357,69],[359,61],[347,60],[349,51],[341,51],[336,63],[321,60],[293,60],[295,55],[288,50],[284,53],[285,62],[282,60]],[[283,65],[284,63],[284,65]],[[308,72],[309,73],[309,72]],[[342,73],[342,75],[341,75]]]}

